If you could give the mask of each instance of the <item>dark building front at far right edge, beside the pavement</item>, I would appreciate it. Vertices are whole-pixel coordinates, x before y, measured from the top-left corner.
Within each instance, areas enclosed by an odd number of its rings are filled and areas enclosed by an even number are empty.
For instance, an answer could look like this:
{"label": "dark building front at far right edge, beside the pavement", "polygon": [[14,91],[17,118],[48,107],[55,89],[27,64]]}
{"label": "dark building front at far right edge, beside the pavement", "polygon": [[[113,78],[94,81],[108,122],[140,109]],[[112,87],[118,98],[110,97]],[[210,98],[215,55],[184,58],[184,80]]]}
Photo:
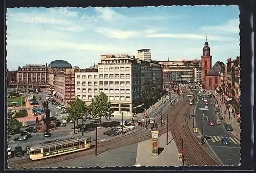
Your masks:
{"label": "dark building front at far right edge, beside the pavement", "polygon": [[233,107],[236,113],[240,113],[240,57],[237,57],[232,61],[231,67],[231,77],[232,77],[232,98]]}

